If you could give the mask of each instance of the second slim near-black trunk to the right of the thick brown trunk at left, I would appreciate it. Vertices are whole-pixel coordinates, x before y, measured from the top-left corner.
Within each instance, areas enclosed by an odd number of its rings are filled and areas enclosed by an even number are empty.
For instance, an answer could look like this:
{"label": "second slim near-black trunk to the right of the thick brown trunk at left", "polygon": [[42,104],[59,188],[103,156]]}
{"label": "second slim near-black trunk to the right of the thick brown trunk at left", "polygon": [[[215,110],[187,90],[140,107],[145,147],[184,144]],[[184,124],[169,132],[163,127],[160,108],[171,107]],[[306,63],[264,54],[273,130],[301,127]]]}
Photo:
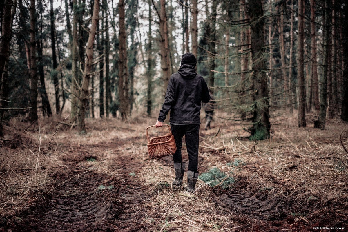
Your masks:
{"label": "second slim near-black trunk to the right of the thick brown trunk at left", "polygon": [[58,67],[57,55],[56,55],[56,41],[55,41],[55,26],[54,26],[54,12],[53,12],[53,0],[50,0],[50,19],[51,19],[51,40],[52,40],[52,61],[53,61],[53,84],[54,84],[54,93],[56,100],[56,114],[60,113],[60,99],[59,99],[59,82],[58,82],[58,73],[56,68]]}

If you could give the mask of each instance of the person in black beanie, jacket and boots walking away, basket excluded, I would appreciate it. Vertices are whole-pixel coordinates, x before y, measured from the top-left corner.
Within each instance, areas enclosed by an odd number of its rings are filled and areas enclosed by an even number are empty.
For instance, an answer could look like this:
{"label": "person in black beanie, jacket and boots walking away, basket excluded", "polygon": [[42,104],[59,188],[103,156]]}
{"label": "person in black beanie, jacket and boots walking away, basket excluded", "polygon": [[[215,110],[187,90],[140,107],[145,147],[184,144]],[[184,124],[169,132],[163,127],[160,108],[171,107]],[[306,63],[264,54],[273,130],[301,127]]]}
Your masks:
{"label": "person in black beanie, jacket and boots walking away, basket excluded", "polygon": [[171,131],[176,143],[176,152],[173,155],[175,179],[173,185],[181,186],[185,163],[182,162],[182,137],[185,135],[189,167],[187,172],[188,192],[195,190],[198,178],[198,143],[201,102],[210,100],[208,86],[203,77],[196,72],[197,60],[192,53],[185,53],[181,58],[181,66],[177,73],[169,79],[167,92],[162,109],[156,122],[156,127],[163,126],[169,112]]}

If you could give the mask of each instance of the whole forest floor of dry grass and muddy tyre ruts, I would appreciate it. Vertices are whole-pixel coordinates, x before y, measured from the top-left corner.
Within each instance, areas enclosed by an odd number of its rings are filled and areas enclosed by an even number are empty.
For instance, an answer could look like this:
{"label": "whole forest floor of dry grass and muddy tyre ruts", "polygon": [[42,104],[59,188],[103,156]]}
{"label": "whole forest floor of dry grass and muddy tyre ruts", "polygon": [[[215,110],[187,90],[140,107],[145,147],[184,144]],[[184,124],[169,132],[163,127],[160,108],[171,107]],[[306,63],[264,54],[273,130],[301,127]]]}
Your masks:
{"label": "whole forest floor of dry grass and muddy tyre ruts", "polygon": [[63,119],[5,126],[0,231],[347,230],[347,123],[298,128],[295,114],[278,116],[271,139],[255,142],[238,122],[216,118],[204,130],[202,120],[200,174],[217,168],[235,183],[199,179],[189,194],[186,173],[182,187],[171,184],[171,157],[148,157],[156,118],[88,119],[85,136]]}

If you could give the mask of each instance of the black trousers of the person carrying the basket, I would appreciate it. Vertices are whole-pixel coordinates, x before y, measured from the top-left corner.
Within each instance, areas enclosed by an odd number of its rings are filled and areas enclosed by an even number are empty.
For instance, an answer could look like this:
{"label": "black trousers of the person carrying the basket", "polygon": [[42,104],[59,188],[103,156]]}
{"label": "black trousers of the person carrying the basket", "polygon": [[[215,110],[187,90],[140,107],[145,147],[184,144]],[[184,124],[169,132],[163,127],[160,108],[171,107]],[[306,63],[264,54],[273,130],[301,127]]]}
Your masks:
{"label": "black trousers of the person carrying the basket", "polygon": [[199,125],[171,124],[171,130],[172,130],[172,134],[174,135],[174,139],[176,143],[176,152],[173,155],[173,161],[179,162],[179,163],[182,162],[182,159],[181,159],[182,137],[185,135],[187,153],[189,154],[188,170],[196,172],[198,168]]}

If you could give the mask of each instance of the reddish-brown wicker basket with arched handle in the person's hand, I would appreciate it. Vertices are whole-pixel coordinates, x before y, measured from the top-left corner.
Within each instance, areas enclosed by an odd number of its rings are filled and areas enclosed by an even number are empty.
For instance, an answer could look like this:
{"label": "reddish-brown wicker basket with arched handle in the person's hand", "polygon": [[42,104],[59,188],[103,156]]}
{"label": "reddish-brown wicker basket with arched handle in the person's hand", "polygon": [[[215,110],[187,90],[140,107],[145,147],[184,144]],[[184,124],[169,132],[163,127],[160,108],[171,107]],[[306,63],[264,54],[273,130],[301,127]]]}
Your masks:
{"label": "reddish-brown wicker basket with arched handle in the person's hand", "polygon": [[156,125],[149,126],[146,128],[146,135],[148,137],[148,149],[151,159],[161,158],[168,155],[173,155],[176,151],[176,144],[174,136],[172,135],[171,128],[168,124],[163,124],[168,126],[169,135],[163,135],[158,137],[149,138],[148,129],[150,127],[155,127]]}

